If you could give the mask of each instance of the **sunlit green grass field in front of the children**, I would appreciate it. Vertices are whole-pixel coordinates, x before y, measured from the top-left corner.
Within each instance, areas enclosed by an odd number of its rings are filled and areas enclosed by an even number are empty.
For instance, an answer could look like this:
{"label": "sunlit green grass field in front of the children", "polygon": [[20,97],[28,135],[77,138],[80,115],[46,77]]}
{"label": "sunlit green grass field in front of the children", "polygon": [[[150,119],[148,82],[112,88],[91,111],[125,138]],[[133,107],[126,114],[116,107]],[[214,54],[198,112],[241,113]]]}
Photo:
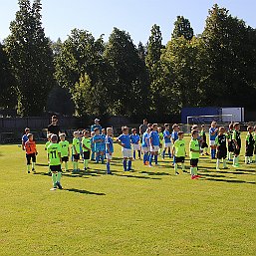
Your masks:
{"label": "sunlit green grass field in front of the children", "polygon": [[241,156],[239,168],[216,171],[205,156],[191,180],[169,160],[124,172],[115,149],[114,175],[91,163],[50,191],[43,145],[36,174],[17,144],[1,145],[0,255],[256,255],[256,164]]}

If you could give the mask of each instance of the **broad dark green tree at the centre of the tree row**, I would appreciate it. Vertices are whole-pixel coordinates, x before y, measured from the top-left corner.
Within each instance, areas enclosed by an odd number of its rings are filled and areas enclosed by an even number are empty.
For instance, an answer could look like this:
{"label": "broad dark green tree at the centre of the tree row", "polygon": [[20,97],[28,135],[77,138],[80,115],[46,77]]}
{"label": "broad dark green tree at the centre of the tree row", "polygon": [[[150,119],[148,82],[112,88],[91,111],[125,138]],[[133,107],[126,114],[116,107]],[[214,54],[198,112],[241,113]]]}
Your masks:
{"label": "broad dark green tree at the centre of the tree row", "polygon": [[148,74],[127,32],[114,29],[105,59],[115,72],[111,88],[112,114],[144,116],[148,106]]}

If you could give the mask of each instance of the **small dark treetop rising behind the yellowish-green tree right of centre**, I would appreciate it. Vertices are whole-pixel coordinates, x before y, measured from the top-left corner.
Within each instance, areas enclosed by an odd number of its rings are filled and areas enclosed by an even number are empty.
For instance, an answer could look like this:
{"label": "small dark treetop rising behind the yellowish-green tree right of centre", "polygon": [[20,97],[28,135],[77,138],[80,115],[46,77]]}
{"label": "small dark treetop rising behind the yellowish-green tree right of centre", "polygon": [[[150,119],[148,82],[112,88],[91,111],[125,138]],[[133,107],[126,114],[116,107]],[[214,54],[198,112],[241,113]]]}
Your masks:
{"label": "small dark treetop rising behind the yellowish-green tree right of centre", "polygon": [[191,40],[194,36],[194,31],[191,28],[188,19],[183,16],[177,16],[177,20],[174,22],[174,29],[172,32],[172,38],[179,38],[183,36],[186,40]]}

